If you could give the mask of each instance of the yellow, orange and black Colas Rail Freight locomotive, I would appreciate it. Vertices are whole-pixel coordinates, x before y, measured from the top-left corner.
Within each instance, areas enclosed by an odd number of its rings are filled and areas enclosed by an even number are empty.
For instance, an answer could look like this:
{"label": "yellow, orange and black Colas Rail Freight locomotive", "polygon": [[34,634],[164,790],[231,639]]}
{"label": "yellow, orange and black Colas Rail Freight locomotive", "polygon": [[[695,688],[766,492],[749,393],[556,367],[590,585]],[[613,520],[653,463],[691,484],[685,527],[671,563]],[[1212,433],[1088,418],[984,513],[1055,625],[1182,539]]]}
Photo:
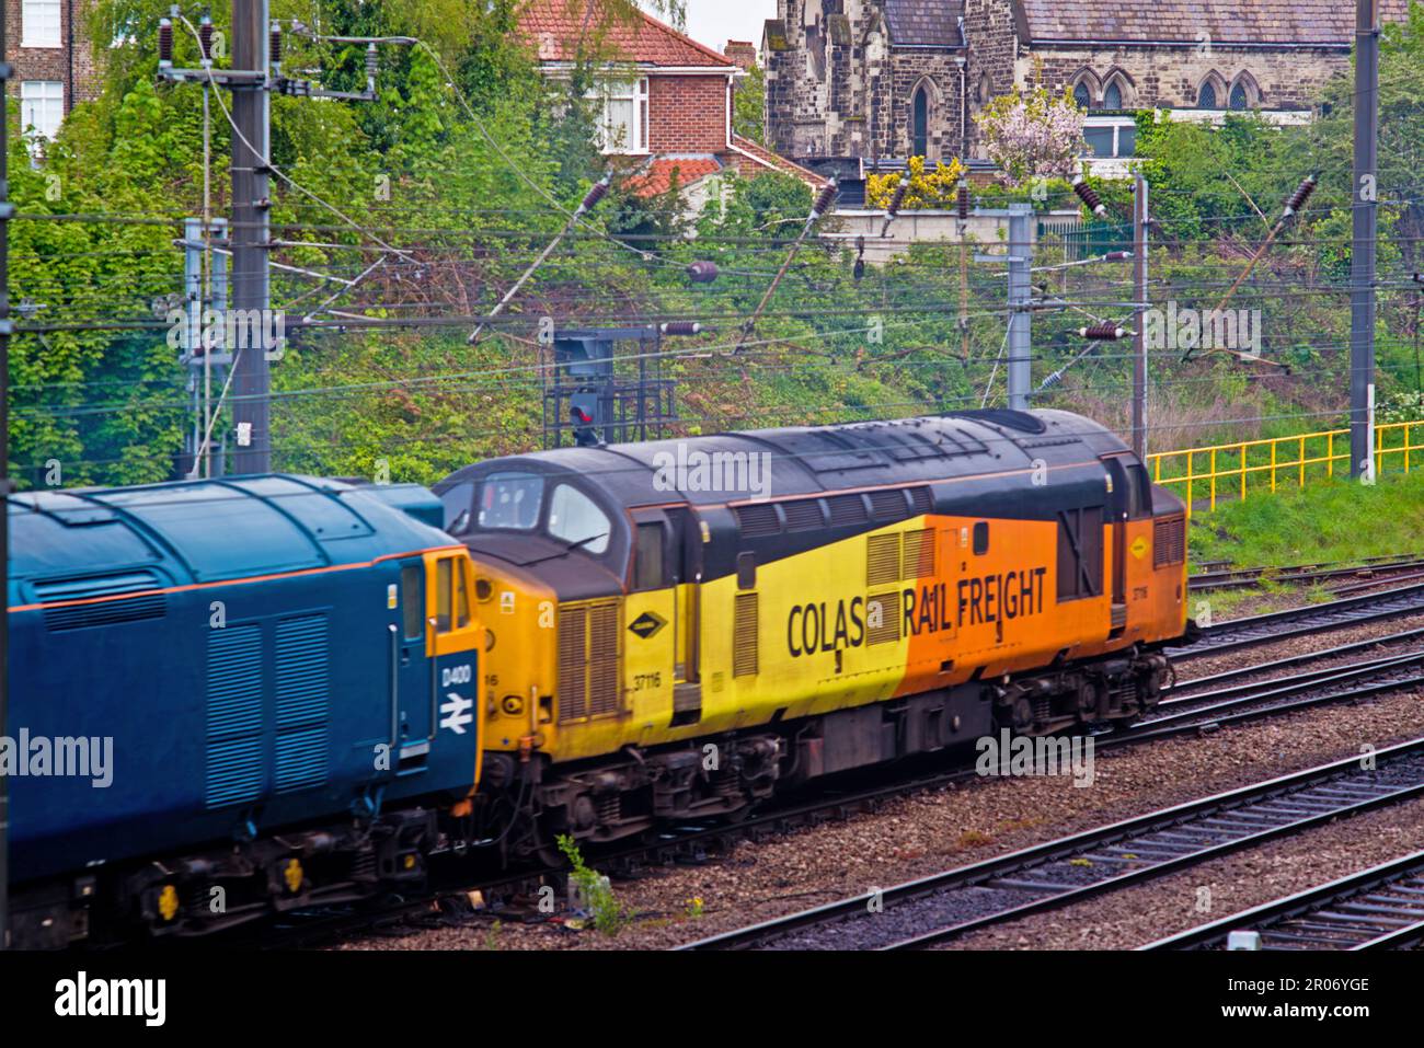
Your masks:
{"label": "yellow, orange and black Colas Rail Freight locomotive", "polygon": [[515,852],[1131,720],[1188,631],[1185,507],[1065,412],[558,449],[434,491],[486,628],[477,805]]}

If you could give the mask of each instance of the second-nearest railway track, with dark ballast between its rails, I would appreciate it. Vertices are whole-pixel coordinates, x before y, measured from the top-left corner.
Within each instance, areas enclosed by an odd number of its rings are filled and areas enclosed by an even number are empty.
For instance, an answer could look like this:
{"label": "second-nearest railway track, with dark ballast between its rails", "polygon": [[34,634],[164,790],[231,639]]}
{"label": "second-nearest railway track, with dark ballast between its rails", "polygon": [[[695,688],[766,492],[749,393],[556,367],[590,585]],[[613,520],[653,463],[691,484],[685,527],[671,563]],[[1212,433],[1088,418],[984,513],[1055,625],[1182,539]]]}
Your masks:
{"label": "second-nearest railway track, with dark ballast between its rails", "polygon": [[1424,796],[1424,739],[1075,833],[692,943],[689,950],[914,950]]}

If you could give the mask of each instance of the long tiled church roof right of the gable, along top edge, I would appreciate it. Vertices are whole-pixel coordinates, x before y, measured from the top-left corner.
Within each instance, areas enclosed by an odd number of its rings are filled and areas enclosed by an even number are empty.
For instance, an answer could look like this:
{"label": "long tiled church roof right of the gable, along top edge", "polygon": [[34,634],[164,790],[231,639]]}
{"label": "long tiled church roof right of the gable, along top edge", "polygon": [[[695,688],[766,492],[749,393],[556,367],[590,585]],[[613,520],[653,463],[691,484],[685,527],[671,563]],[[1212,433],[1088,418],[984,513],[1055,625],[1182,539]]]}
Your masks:
{"label": "long tiled church roof right of the gable, along top edge", "polygon": [[[931,3],[943,0],[924,0],[924,6]],[[1014,0],[1014,6],[1022,13],[1034,43],[1124,40],[1349,47],[1354,40],[1354,4],[1344,0]],[[1384,21],[1401,21],[1407,11],[1408,0],[1380,0]]]}

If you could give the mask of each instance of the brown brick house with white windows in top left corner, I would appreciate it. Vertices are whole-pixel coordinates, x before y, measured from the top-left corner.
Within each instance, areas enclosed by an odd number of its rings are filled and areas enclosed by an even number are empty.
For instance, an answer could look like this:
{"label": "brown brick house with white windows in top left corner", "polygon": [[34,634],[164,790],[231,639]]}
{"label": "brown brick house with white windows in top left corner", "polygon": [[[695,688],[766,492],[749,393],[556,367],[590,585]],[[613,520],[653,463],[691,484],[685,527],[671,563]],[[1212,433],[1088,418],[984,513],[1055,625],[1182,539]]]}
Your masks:
{"label": "brown brick house with white windows in top left corner", "polygon": [[4,0],[6,61],[21,127],[53,138],[74,103],[98,91],[87,13],[91,0]]}

